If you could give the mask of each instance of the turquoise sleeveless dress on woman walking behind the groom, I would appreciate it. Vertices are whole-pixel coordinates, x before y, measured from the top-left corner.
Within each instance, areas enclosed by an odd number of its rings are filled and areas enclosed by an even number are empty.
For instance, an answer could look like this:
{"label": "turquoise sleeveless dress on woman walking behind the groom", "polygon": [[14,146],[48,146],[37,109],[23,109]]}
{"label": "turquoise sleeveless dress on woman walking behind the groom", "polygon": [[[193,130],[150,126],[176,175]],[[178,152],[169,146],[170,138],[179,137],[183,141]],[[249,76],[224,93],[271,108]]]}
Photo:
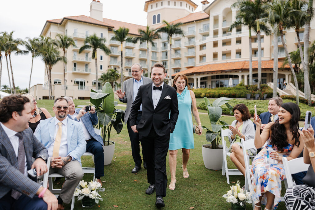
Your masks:
{"label": "turquoise sleeveless dress on woman walking behind the groom", "polygon": [[169,137],[169,150],[194,149],[191,113],[192,98],[187,86],[181,94],[177,93],[177,99],[179,115],[175,130]]}

